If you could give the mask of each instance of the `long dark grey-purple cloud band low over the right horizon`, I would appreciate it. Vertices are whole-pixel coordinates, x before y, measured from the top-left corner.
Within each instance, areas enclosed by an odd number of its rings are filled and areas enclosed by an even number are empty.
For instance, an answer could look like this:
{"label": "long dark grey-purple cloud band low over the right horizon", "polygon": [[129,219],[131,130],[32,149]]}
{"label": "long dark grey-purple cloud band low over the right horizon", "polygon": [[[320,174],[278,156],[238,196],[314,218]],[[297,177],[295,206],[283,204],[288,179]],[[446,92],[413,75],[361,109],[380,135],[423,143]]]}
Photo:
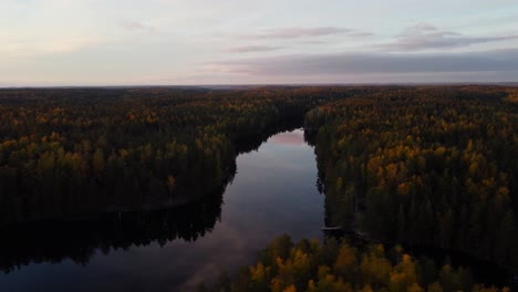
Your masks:
{"label": "long dark grey-purple cloud band low over the right horizon", "polygon": [[518,49],[478,53],[334,53],[250,58],[209,64],[250,76],[517,72]]}

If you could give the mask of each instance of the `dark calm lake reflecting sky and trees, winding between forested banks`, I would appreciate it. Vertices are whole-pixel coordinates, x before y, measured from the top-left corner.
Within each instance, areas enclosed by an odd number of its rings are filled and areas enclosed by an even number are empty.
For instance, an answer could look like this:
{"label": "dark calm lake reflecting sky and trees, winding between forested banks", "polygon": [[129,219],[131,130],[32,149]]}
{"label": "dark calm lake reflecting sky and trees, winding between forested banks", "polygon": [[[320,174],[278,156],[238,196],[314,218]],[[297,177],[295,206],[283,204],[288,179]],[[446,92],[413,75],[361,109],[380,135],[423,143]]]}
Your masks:
{"label": "dark calm lake reflecting sky and trees, winding between forested banks", "polygon": [[[0,291],[190,291],[250,264],[276,236],[321,238],[323,195],[300,129],[237,158],[234,181],[193,206],[59,228],[0,242]],[[222,192],[222,191],[221,191]]]}

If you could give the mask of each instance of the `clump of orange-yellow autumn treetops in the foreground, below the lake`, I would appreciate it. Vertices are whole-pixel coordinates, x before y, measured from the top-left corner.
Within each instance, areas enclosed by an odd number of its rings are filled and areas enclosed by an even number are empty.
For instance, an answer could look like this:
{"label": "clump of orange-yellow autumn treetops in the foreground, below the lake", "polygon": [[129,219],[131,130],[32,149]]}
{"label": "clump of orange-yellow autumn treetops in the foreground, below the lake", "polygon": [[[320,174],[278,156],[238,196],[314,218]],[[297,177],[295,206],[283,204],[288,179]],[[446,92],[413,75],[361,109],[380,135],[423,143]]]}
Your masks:
{"label": "clump of orange-yellow autumn treetops in the foreground, below the lake", "polygon": [[441,292],[510,291],[474,284],[469,269],[437,265],[428,258],[415,259],[400,246],[385,250],[382,244],[361,248],[328,240],[301,240],[297,244],[288,236],[274,239],[259,260],[232,279],[222,275],[211,288],[198,291],[272,291],[272,292]]}

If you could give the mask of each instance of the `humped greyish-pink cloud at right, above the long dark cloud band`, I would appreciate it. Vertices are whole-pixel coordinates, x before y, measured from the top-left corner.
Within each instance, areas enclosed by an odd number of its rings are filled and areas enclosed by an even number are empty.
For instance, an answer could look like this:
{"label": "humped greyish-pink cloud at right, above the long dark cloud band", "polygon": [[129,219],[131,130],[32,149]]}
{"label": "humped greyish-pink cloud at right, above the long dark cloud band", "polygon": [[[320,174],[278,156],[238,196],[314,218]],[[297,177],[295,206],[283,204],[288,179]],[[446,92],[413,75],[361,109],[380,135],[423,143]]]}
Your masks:
{"label": "humped greyish-pink cloud at right, above the long dark cloud band", "polygon": [[381,44],[388,51],[425,51],[433,49],[463,48],[477,43],[517,40],[518,35],[467,36],[454,31],[442,31],[428,23],[419,23],[405,29],[392,43]]}

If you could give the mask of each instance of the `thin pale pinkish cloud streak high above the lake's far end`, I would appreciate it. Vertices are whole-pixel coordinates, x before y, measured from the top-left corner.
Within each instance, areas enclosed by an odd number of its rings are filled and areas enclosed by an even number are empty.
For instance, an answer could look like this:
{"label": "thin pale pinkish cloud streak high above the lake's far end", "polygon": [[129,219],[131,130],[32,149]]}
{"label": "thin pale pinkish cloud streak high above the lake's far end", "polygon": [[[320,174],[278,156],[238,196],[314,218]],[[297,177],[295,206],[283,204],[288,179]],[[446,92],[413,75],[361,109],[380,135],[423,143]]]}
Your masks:
{"label": "thin pale pinkish cloud streak high above the lake's far end", "polygon": [[299,38],[318,38],[332,34],[343,34],[352,32],[350,29],[338,27],[319,27],[319,28],[283,28],[265,30],[258,34],[249,35],[250,39],[299,39]]}

